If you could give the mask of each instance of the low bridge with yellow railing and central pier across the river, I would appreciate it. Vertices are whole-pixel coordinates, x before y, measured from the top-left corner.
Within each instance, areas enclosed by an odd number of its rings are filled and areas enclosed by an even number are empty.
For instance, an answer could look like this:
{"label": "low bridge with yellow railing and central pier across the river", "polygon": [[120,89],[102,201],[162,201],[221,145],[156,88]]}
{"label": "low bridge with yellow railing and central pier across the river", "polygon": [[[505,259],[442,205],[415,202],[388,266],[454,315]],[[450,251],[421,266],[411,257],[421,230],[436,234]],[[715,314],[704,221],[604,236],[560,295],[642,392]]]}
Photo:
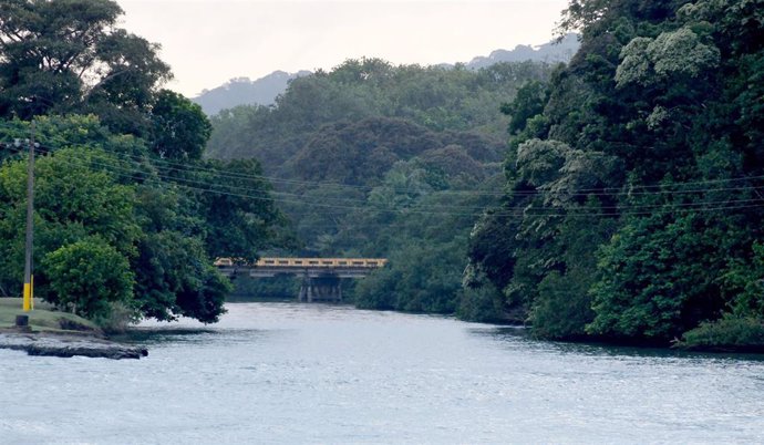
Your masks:
{"label": "low bridge with yellow railing and central pier across the river", "polygon": [[239,265],[230,258],[215,261],[220,273],[228,277],[302,277],[298,300],[307,302],[342,301],[340,279],[363,278],[386,263],[385,258],[260,258],[255,265]]}

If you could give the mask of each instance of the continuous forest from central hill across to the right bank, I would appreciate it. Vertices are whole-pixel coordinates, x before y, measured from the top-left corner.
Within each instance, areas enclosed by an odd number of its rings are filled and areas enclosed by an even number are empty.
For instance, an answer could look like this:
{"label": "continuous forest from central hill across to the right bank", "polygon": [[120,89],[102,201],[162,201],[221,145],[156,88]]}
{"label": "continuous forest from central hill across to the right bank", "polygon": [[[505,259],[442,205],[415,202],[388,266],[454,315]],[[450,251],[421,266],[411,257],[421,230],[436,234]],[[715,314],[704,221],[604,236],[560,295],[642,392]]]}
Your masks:
{"label": "continuous forest from central hill across to the right bank", "polygon": [[358,306],[761,344],[763,10],[571,1],[565,66],[349,61],[223,112],[208,153],[261,159],[308,252],[390,257]]}

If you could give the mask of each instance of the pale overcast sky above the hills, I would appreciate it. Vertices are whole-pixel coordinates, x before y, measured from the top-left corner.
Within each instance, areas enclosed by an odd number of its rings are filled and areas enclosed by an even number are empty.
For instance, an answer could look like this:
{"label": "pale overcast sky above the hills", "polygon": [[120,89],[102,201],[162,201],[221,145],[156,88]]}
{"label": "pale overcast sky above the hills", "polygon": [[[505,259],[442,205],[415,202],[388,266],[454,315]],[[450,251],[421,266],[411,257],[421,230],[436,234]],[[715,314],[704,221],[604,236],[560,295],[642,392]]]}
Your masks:
{"label": "pale overcast sky above the hills", "polygon": [[567,0],[116,0],[120,25],[153,43],[194,97],[234,77],[331,70],[347,59],[468,62],[541,44]]}

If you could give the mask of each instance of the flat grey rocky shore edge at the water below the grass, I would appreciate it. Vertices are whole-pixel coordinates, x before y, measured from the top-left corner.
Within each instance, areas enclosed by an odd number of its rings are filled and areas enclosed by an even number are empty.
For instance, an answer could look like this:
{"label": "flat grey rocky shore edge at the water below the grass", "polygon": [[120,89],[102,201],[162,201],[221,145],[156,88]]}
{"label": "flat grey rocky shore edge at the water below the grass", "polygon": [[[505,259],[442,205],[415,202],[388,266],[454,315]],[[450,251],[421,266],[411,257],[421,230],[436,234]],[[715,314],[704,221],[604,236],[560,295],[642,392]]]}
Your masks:
{"label": "flat grey rocky shore edge at the water below the grass", "polygon": [[0,331],[0,349],[27,351],[29,355],[89,356],[104,359],[141,359],[148,355],[143,346],[115,343],[105,339],[75,333]]}

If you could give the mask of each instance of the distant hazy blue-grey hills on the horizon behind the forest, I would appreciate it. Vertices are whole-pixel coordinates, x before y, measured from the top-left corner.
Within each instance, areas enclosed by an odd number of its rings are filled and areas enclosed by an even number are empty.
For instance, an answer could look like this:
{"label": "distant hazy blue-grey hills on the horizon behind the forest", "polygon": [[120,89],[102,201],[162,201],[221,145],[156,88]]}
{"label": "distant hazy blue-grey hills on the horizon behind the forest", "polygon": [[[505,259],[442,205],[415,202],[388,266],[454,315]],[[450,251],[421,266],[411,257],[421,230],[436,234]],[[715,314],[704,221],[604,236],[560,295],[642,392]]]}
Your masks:
{"label": "distant hazy blue-grey hills on the horizon behind the forest", "polygon": [[[517,45],[514,50],[496,50],[488,56],[476,56],[465,65],[471,70],[479,70],[500,62],[568,62],[578,51],[578,34],[567,34],[559,43],[550,41],[538,46]],[[443,63],[438,66],[451,68],[453,64]],[[287,73],[275,71],[258,80],[249,77],[235,77],[225,84],[205,90],[193,101],[202,105],[208,115],[214,115],[220,110],[233,108],[236,105],[259,104],[271,105],[276,97],[287,90],[292,79],[310,74],[310,71]]]}

